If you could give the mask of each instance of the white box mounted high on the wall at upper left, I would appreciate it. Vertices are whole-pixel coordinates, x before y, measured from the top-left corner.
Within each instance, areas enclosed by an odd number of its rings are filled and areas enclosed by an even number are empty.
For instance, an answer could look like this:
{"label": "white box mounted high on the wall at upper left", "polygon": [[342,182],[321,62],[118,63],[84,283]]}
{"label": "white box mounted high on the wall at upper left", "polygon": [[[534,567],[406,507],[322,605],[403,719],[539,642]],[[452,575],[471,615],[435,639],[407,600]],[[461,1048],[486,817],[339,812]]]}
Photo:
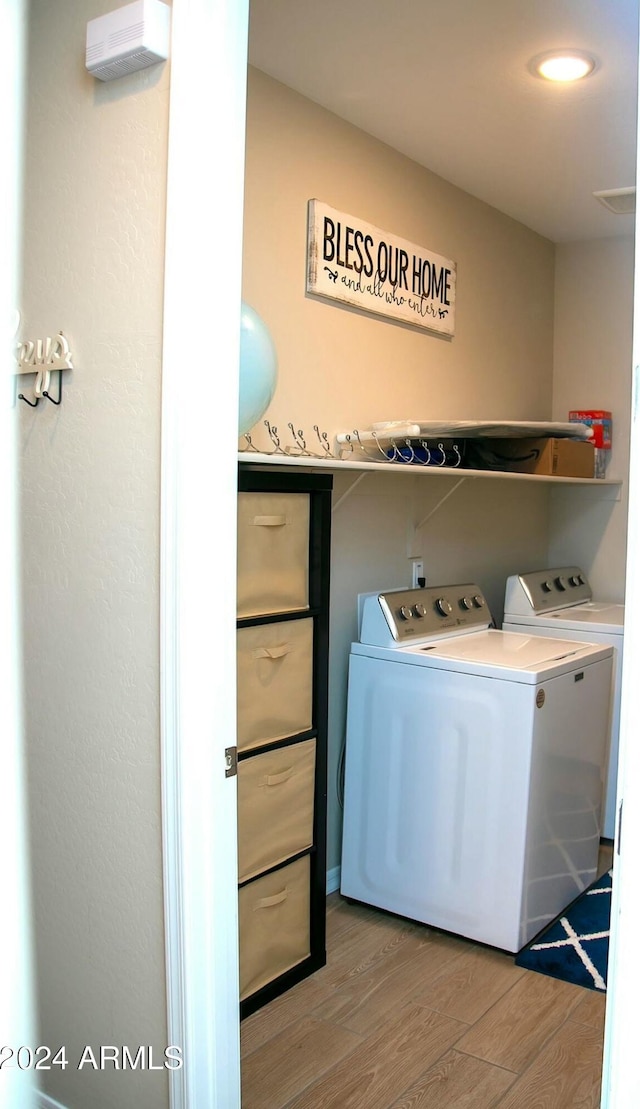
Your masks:
{"label": "white box mounted high on the wall at upper left", "polygon": [[169,58],[171,9],[135,0],[87,24],[87,69],[99,81],[146,69]]}

